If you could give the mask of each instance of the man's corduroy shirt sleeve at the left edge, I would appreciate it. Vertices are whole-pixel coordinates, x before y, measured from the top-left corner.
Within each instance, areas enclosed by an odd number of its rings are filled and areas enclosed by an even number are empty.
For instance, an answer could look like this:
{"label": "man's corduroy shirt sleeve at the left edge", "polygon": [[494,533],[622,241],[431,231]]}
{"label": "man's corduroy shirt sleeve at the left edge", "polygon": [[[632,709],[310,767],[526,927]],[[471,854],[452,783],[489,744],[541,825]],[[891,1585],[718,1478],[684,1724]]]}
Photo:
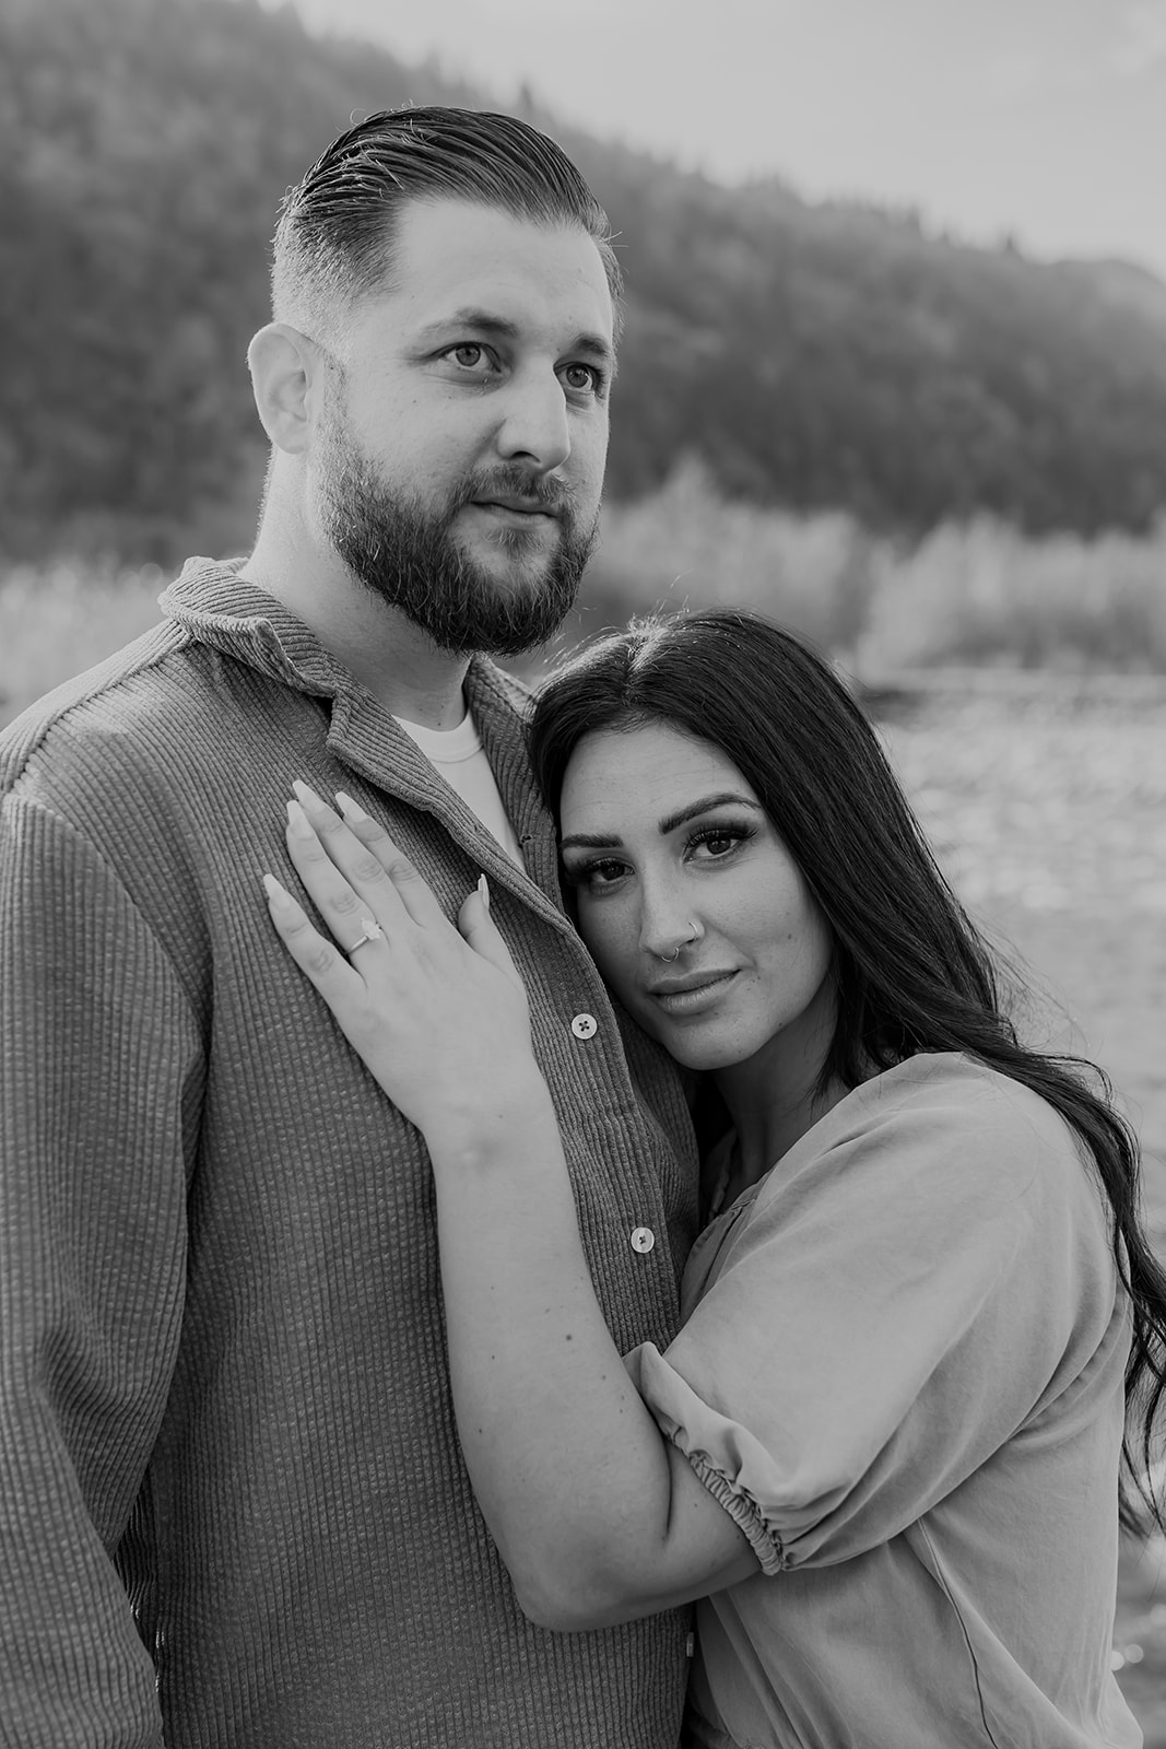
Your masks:
{"label": "man's corduroy shirt sleeve at the left edge", "polygon": [[115,1551],[175,1364],[201,1049],[122,883],[16,794],[0,1023],[0,1740],[161,1749]]}

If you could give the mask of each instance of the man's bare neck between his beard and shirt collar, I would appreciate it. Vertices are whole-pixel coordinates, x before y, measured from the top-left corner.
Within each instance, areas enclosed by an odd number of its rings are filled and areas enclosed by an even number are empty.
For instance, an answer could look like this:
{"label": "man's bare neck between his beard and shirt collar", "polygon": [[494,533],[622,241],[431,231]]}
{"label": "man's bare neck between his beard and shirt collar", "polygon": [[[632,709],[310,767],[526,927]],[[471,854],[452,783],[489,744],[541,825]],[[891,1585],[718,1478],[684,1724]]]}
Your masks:
{"label": "man's bare neck between his beard and shirt collar", "polygon": [[441,651],[399,609],[364,589],[336,554],[315,554],[260,530],[241,575],[302,619],[329,654],[395,717],[455,729],[465,717],[465,656]]}

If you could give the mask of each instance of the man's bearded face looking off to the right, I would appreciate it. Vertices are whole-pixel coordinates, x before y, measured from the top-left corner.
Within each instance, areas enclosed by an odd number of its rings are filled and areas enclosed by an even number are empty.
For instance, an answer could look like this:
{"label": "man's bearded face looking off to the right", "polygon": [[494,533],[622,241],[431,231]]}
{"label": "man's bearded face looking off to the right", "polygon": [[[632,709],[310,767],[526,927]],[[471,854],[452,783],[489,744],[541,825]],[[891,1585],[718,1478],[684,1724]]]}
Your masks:
{"label": "man's bearded face looking off to the right", "polygon": [[594,544],[612,364],[586,231],[413,201],[320,418],[329,540],[442,649],[544,642]]}

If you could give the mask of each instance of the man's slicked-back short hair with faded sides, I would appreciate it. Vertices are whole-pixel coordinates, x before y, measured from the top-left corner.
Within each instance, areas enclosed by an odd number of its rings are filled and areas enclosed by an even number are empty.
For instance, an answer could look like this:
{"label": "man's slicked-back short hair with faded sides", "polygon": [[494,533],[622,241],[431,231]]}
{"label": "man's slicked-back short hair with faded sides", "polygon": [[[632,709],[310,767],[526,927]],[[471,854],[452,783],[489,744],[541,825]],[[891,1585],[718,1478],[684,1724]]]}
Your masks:
{"label": "man's slicked-back short hair with faded sides", "polygon": [[280,208],[273,310],[313,338],[393,275],[395,220],[407,201],[496,206],[593,238],[612,292],[622,278],[607,213],[570,157],[516,115],[467,108],[378,110],[336,140]]}

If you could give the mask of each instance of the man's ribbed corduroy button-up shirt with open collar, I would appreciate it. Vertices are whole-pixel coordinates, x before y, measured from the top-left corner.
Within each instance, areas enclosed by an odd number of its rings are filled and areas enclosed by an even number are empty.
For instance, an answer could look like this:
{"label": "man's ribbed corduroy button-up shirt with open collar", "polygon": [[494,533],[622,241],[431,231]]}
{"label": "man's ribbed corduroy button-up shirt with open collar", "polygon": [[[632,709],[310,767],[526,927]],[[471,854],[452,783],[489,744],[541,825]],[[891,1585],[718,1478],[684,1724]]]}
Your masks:
{"label": "man's ribbed corduroy button-up shirt with open collar", "polygon": [[552,1635],[516,1606],[455,1434],[425,1146],[260,885],[295,887],[294,777],[348,789],[449,913],[486,871],[614,1340],[666,1347],[687,1112],[559,909],[523,689],[467,679],[528,874],[233,567],[191,561],[163,612],[0,738],[0,1744],[671,1749],[687,1613]]}

